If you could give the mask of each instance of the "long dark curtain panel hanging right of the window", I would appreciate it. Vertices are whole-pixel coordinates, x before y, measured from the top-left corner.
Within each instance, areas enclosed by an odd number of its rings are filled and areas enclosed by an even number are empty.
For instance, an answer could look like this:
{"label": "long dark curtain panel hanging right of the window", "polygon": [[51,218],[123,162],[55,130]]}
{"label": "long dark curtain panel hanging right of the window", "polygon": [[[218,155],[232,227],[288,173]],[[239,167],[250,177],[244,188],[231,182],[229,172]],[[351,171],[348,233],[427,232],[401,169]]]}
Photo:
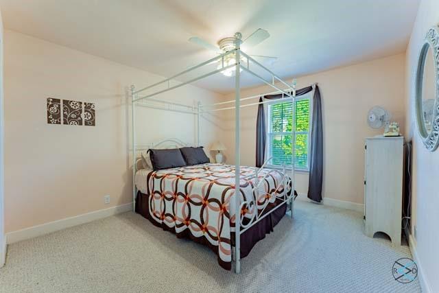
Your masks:
{"label": "long dark curtain panel hanging right of the window", "polygon": [[316,85],[313,95],[313,115],[311,122],[311,151],[309,154],[308,198],[316,202],[322,201],[323,181],[323,126],[322,99],[320,89]]}

